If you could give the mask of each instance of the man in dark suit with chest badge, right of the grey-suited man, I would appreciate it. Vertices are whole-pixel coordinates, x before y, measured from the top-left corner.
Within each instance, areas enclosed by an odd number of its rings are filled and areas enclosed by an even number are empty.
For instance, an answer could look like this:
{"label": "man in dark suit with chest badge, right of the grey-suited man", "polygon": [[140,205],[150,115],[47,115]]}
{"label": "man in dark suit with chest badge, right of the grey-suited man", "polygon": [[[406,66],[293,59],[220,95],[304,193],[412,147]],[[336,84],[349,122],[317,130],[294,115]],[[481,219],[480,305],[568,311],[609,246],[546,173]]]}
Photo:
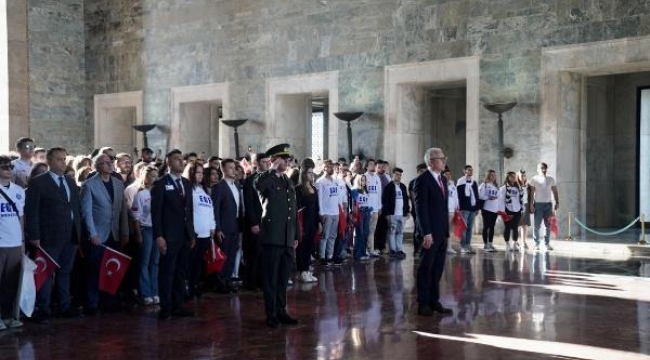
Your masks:
{"label": "man in dark suit with chest badge, right of the grey-suited man", "polygon": [[190,249],[194,247],[194,208],[192,186],[181,177],[183,153],[172,150],[166,156],[169,173],[151,189],[153,236],[160,250],[158,318],[187,317],[194,313],[183,307],[185,278]]}

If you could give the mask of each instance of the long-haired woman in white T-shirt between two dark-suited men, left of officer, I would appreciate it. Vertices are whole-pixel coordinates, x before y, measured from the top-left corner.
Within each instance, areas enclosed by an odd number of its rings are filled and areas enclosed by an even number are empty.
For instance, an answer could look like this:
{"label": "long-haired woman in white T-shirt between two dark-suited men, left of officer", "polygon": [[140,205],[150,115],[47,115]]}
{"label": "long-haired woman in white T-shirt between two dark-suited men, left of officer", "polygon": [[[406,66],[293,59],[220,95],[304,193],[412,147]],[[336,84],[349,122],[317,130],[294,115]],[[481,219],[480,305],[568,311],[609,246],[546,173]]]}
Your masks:
{"label": "long-haired woman in white T-shirt between two dark-suited men, left of officer", "polygon": [[194,232],[196,233],[196,245],[190,250],[190,262],[188,266],[189,278],[188,288],[190,298],[201,297],[199,283],[202,280],[203,255],[208,251],[210,239],[214,237],[216,223],[214,220],[214,208],[210,198],[210,190],[204,186],[203,167],[196,161],[190,161],[185,166],[183,177],[192,185],[192,204],[194,205]]}

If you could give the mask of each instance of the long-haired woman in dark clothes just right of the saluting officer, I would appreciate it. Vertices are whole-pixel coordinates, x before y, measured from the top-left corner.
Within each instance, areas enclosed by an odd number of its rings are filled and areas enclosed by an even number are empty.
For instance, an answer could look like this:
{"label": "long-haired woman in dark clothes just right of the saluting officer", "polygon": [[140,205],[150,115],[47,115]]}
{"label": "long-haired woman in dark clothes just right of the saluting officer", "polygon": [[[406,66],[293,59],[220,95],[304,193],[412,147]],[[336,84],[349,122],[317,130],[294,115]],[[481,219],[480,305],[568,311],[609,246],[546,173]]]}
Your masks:
{"label": "long-haired woman in dark clothes just right of the saluting officer", "polygon": [[305,167],[300,170],[299,184],[296,186],[296,205],[298,211],[302,212],[302,234],[301,241],[296,248],[296,267],[300,274],[299,280],[311,283],[318,280],[310,268],[311,253],[314,251],[314,237],[321,226],[313,167]]}

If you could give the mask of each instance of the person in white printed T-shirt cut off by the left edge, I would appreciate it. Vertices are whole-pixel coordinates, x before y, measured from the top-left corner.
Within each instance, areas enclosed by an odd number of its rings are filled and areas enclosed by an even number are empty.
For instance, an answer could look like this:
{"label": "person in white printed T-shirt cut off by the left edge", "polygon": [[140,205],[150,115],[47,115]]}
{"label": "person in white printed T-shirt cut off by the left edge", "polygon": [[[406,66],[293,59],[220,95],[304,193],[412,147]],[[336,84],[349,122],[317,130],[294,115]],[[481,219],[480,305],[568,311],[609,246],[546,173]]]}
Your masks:
{"label": "person in white printed T-shirt cut off by the left edge", "polygon": [[25,191],[11,181],[11,158],[0,156],[0,330],[22,326],[14,316],[23,257]]}

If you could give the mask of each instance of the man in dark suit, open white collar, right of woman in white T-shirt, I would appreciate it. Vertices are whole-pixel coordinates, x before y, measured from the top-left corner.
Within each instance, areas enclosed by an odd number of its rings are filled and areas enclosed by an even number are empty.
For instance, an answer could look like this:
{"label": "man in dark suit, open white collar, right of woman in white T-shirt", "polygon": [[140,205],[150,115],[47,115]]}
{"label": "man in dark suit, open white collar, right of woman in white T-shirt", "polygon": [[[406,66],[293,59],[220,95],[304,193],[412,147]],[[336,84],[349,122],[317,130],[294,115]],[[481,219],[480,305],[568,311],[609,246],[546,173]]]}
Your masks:
{"label": "man in dark suit, open white collar, right of woman in white T-shirt", "polygon": [[223,179],[212,189],[212,206],[217,227],[215,237],[226,253],[226,263],[221,269],[221,281],[226,290],[235,292],[230,278],[235,269],[235,257],[239,251],[239,221],[243,216],[243,199],[235,184],[235,160],[221,161]]}

